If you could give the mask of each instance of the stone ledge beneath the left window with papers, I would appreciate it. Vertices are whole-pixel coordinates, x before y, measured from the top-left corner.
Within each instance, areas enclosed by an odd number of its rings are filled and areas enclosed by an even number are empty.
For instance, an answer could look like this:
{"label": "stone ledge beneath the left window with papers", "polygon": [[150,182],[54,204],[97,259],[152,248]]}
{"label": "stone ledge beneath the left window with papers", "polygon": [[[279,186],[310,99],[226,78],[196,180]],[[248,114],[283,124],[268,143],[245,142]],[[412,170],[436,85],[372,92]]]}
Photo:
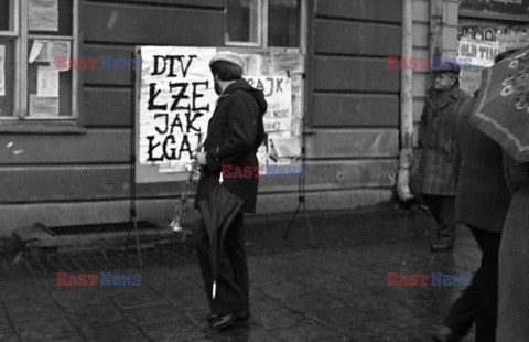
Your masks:
{"label": "stone ledge beneath the left window with papers", "polygon": [[84,135],[86,131],[78,122],[0,121],[0,133]]}

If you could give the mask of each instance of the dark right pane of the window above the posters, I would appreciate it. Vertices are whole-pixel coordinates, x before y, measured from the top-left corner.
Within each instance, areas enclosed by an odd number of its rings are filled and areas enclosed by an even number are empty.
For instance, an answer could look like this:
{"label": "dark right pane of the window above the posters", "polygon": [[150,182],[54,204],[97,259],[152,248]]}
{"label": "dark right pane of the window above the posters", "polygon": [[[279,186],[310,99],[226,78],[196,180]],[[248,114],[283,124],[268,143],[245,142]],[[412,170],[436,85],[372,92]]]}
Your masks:
{"label": "dark right pane of the window above the posters", "polygon": [[269,0],[268,45],[300,45],[300,0]]}

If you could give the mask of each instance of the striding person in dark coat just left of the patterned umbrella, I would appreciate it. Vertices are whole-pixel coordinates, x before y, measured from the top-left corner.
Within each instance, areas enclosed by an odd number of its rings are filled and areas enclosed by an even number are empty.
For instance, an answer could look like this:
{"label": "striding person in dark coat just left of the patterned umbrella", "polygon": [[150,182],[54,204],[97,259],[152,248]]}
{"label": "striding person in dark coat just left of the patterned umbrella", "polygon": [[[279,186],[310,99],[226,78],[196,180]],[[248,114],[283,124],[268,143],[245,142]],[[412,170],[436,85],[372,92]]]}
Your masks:
{"label": "striding person in dark coat just left of the patterned umbrella", "polygon": [[[499,54],[499,62],[508,54]],[[476,97],[457,114],[455,217],[468,226],[482,250],[472,285],[455,301],[435,341],[460,341],[476,323],[476,341],[495,341],[498,312],[498,252],[509,207],[501,147],[469,124]]]}

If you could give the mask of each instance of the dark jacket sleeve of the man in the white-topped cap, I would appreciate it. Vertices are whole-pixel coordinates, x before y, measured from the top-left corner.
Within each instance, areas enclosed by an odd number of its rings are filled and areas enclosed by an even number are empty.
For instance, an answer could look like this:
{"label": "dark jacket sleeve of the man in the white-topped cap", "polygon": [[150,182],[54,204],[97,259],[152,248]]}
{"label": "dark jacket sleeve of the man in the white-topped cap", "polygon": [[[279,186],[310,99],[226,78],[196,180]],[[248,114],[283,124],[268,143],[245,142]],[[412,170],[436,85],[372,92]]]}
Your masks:
{"label": "dark jacket sleeve of the man in the white-topped cap", "polygon": [[235,92],[228,100],[228,136],[222,146],[206,151],[206,162],[212,170],[220,170],[223,164],[255,149],[258,120],[261,119],[256,100],[242,90]]}

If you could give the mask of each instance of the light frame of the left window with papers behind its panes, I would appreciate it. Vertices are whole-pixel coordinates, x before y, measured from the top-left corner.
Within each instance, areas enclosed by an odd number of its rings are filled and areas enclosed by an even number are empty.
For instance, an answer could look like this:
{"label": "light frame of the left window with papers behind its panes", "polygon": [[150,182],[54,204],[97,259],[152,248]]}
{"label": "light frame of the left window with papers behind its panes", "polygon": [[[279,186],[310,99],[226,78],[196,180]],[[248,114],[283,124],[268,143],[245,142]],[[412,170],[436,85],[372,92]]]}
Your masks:
{"label": "light frame of the left window with papers behind its panes", "polygon": [[29,115],[29,92],[28,92],[28,53],[31,40],[60,40],[69,41],[72,51],[71,58],[77,61],[79,55],[79,28],[80,28],[80,1],[71,0],[73,4],[72,12],[72,35],[54,34],[30,34],[29,32],[29,2],[30,0],[10,0],[13,4],[13,11],[10,14],[13,19],[12,31],[0,31],[0,36],[12,38],[14,40],[13,60],[14,60],[14,79],[13,79],[13,113],[10,116],[0,117],[0,131],[29,131],[39,132],[50,130],[52,122],[57,124],[51,131],[77,131],[72,129],[79,120],[79,72],[75,68],[72,72],[72,108],[68,116],[37,117],[32,118]]}

